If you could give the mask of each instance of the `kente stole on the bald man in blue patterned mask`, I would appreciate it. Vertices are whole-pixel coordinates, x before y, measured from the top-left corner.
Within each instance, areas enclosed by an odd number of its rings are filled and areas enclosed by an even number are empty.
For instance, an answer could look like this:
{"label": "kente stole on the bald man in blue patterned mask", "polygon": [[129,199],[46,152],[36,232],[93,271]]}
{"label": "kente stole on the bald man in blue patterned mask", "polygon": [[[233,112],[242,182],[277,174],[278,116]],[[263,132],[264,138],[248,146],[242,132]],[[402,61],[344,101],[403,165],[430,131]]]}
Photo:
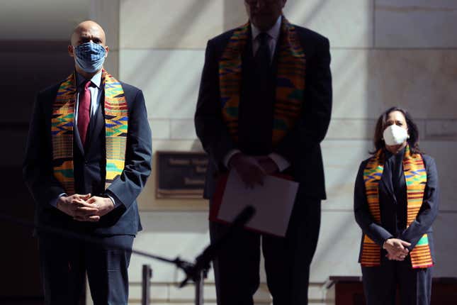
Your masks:
{"label": "kente stole on the bald man in blue patterned mask", "polygon": [[[128,133],[128,106],[123,88],[103,70],[101,86],[105,91],[106,185],[108,187],[124,169]],[[77,87],[75,74],[60,84],[52,105],[51,137],[54,176],[65,192],[74,194],[73,136]]]}

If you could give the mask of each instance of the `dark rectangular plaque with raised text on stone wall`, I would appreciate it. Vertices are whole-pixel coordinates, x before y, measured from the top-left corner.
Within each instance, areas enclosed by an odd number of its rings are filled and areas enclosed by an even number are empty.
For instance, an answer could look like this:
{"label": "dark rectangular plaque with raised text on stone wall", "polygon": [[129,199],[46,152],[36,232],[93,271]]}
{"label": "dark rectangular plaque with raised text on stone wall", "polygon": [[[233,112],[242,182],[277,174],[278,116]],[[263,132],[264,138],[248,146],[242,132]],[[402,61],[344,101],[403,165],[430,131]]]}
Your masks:
{"label": "dark rectangular plaque with raised text on stone wall", "polygon": [[205,153],[158,151],[156,158],[156,198],[203,197],[208,167]]}

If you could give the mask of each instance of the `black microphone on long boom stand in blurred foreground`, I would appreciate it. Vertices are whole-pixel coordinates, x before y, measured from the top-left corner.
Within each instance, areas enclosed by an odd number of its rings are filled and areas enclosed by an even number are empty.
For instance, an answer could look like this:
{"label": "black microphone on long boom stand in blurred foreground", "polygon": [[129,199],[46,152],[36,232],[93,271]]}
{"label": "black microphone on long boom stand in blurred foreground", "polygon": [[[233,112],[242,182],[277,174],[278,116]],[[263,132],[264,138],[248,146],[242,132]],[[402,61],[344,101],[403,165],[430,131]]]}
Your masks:
{"label": "black microphone on long boom stand in blurred foreground", "polygon": [[[74,233],[72,231],[63,230],[61,228],[55,228],[52,226],[42,226],[35,224],[31,221],[24,221],[22,219],[13,218],[8,215],[0,214],[0,220],[8,221],[9,223],[14,223],[18,226],[34,228],[37,230],[38,233],[50,234],[50,235],[60,235],[64,238],[73,238],[77,240],[82,240],[86,243],[94,243],[94,244],[103,244],[103,245],[110,245],[113,248],[118,250],[125,250],[129,251],[130,253],[135,253],[136,255],[141,255],[145,257],[152,258],[153,260],[159,260],[161,262],[168,262],[170,264],[175,265],[180,270],[186,274],[186,278],[181,282],[179,288],[182,288],[188,284],[188,281],[192,280],[196,285],[196,305],[203,304],[203,280],[205,279],[206,275],[208,275],[208,271],[210,270],[210,262],[214,260],[214,258],[218,255],[220,248],[222,245],[225,244],[227,239],[231,238],[233,233],[239,229],[241,229],[255,214],[255,209],[252,206],[247,206],[243,209],[243,211],[235,217],[235,220],[232,221],[230,226],[227,229],[227,232],[222,235],[218,240],[215,240],[214,243],[210,243],[203,252],[196,257],[195,262],[188,262],[186,260],[181,260],[181,258],[176,257],[174,260],[171,260],[167,257],[162,257],[159,255],[154,255],[151,253],[146,253],[144,251],[135,250],[132,248],[128,248],[122,245],[114,245],[113,243],[106,243],[103,242],[101,238],[96,238],[90,235],[83,235],[79,233]],[[149,278],[149,277],[145,277]],[[144,284],[144,283],[143,283]],[[143,285],[144,286],[144,285]],[[148,304],[149,300],[146,300]]]}

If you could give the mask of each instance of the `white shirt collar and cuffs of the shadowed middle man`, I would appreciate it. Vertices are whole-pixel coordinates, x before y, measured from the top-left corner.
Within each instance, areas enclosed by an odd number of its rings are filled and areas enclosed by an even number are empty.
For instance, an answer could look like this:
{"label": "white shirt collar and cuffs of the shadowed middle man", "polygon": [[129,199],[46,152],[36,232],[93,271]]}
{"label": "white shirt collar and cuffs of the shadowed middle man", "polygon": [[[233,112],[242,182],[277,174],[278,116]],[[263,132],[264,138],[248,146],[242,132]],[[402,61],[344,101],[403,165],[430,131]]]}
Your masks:
{"label": "white shirt collar and cuffs of the shadowed middle man", "polygon": [[[268,45],[270,48],[270,60],[273,60],[274,56],[274,51],[276,49],[276,43],[278,42],[279,35],[281,33],[281,20],[282,16],[278,17],[278,20],[276,23],[271,27],[266,33],[268,34]],[[259,50],[260,46],[260,41],[257,39],[261,31],[254,26],[253,23],[251,23],[251,31],[252,31],[252,51],[254,52],[253,55],[256,55],[257,50]],[[230,150],[227,155],[224,157],[224,165],[225,167],[229,167],[229,162],[230,159],[235,155],[236,153],[241,153],[241,150]],[[287,167],[290,166],[290,162],[286,160],[281,155],[278,155],[277,153],[270,153],[268,155],[273,162],[276,163],[276,166],[278,166],[279,172],[282,172],[283,170],[286,170]]]}

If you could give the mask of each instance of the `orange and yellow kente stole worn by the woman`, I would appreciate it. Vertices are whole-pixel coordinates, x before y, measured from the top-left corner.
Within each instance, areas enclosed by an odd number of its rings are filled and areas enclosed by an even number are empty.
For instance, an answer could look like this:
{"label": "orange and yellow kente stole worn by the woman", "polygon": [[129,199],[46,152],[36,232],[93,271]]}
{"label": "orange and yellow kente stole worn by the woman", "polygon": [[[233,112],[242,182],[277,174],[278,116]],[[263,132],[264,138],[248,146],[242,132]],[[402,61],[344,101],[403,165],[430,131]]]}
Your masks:
{"label": "orange and yellow kente stole worn by the woman", "polygon": [[[383,150],[378,150],[376,155],[368,161],[363,170],[363,181],[365,182],[366,199],[368,209],[376,223],[380,224],[379,207],[379,182],[384,170]],[[422,155],[410,153],[410,147],[405,148],[403,158],[403,171],[405,172],[407,189],[407,226],[416,219],[424,199],[424,189],[427,184],[427,172],[425,170]],[[361,265],[364,267],[375,267],[380,265],[380,246],[368,235],[363,235]],[[433,266],[427,234],[422,235],[417,245],[410,253],[413,268],[427,268]]]}

